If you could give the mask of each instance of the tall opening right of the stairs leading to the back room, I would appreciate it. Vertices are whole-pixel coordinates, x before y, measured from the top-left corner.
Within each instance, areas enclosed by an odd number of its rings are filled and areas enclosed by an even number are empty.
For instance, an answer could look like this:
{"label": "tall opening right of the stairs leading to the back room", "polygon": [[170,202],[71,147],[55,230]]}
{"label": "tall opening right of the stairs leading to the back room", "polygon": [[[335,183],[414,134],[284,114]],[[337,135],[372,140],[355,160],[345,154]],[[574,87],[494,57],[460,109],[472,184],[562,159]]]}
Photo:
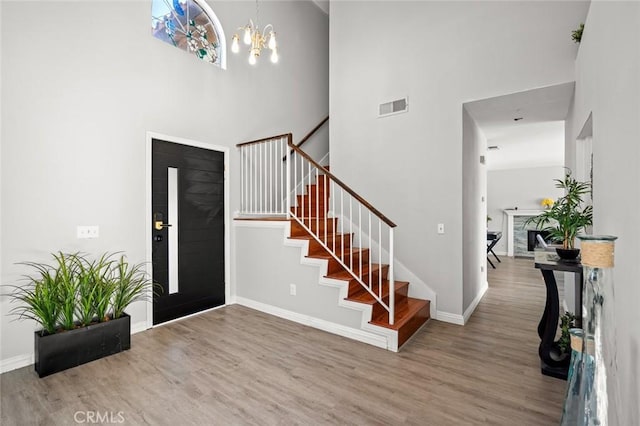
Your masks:
{"label": "tall opening right of the stairs leading to the back room", "polygon": [[498,255],[533,257],[523,224],[542,211],[543,199],[562,195],[554,179],[565,171],[564,121],[574,87],[570,82],[463,104],[465,311],[488,287],[487,232],[502,233],[493,248]]}

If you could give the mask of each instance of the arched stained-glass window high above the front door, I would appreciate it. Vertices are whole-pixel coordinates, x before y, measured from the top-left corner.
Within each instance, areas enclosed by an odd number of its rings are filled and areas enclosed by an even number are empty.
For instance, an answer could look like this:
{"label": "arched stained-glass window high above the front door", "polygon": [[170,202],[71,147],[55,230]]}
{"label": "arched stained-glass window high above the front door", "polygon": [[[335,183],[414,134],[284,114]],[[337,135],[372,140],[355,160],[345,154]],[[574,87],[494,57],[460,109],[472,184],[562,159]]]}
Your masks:
{"label": "arched stained-glass window high above the front door", "polygon": [[152,0],[151,33],[203,61],[227,68],[224,31],[205,0]]}

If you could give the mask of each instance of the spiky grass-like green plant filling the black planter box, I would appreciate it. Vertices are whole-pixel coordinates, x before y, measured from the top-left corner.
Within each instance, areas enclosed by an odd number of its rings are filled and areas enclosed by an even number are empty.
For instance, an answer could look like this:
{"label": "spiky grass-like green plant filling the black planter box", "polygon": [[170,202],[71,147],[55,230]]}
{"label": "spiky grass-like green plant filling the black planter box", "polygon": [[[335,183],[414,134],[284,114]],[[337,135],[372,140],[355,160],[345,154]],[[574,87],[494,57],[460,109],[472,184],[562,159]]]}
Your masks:
{"label": "spiky grass-like green plant filling the black planter box", "polygon": [[22,285],[9,286],[17,306],[11,314],[32,319],[41,334],[73,330],[120,318],[137,300],[149,296],[152,281],[143,264],[130,264],[121,255],[105,253],[96,260],[80,253],[58,252],[53,264],[24,262],[33,269]]}

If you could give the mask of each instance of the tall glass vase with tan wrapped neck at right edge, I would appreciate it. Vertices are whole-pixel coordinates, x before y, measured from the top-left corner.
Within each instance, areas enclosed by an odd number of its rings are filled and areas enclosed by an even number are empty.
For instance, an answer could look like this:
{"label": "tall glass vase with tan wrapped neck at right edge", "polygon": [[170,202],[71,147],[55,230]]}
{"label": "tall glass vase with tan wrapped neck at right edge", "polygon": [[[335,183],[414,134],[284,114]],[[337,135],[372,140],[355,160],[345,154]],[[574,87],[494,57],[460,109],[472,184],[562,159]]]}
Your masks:
{"label": "tall glass vase with tan wrapped neck at right edge", "polygon": [[[579,412],[574,425],[606,426],[611,402],[607,378],[615,380],[615,329],[613,317],[613,236],[580,236],[583,266],[582,356]],[[574,372],[575,374],[575,372]],[[615,404],[614,404],[615,405]],[[616,407],[611,407],[615,409]]]}

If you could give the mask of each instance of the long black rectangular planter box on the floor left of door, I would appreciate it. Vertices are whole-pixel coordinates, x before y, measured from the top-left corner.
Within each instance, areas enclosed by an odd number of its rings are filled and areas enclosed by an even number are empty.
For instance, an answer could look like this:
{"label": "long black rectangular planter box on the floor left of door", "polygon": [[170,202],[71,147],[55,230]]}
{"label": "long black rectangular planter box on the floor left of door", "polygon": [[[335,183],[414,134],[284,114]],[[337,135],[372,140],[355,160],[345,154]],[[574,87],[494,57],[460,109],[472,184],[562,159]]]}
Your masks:
{"label": "long black rectangular planter box on the floor left of door", "polygon": [[115,320],[47,336],[36,331],[36,372],[38,376],[45,377],[130,348],[131,317],[127,314]]}

